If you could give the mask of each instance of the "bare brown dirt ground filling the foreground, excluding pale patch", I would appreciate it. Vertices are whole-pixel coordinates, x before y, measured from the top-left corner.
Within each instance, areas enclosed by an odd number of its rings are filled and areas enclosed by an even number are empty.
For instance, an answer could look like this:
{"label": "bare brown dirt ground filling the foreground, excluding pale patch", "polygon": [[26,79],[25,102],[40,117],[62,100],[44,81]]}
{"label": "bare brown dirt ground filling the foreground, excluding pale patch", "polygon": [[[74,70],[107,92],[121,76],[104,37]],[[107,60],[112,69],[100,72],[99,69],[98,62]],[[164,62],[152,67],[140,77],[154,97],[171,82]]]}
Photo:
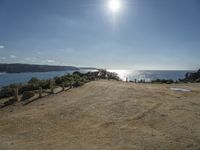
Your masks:
{"label": "bare brown dirt ground filling the foreground, excluding pale patch", "polygon": [[200,84],[101,80],[1,108],[0,150],[7,149],[200,150]]}

